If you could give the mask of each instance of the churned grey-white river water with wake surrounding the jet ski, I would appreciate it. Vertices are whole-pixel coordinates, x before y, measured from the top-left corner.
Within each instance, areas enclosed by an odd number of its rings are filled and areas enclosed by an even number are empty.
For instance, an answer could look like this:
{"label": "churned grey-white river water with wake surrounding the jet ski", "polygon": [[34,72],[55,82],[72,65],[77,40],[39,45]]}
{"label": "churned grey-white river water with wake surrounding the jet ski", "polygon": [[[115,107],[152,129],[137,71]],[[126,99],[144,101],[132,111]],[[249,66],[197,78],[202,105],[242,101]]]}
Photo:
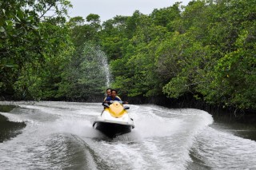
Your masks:
{"label": "churned grey-white river water with wake surrounding the jet ski", "polygon": [[135,128],[109,139],[92,128],[100,103],[10,104],[0,114],[26,125],[0,143],[0,169],[256,169],[255,140],[202,110],[130,105]]}

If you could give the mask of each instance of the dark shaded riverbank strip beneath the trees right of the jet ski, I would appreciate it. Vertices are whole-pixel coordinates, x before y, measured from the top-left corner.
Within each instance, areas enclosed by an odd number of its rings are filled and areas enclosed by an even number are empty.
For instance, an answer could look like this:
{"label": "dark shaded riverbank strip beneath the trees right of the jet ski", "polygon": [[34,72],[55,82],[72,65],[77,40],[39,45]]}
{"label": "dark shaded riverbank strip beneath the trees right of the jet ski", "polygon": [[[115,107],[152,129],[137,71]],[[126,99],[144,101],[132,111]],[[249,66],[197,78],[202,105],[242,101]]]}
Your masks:
{"label": "dark shaded riverbank strip beneath the trees right of the jet ski", "polygon": [[222,105],[210,105],[205,101],[196,100],[192,96],[170,99],[167,97],[124,97],[124,100],[132,104],[154,104],[170,109],[201,109],[210,113],[215,119],[226,122],[238,122],[242,124],[256,124],[256,110],[237,109],[234,107],[223,107]]}

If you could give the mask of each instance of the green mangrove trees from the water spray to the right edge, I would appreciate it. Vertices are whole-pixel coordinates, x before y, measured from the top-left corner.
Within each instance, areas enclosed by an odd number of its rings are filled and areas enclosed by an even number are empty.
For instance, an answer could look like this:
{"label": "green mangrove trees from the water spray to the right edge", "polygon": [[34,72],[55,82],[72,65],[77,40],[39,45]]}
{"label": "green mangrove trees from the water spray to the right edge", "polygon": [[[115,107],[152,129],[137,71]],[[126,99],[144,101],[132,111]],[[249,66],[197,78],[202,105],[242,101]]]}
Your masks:
{"label": "green mangrove trees from the water spray to the right edge", "polygon": [[[114,88],[255,109],[255,1],[192,1],[103,25]],[[125,71],[125,72],[124,72]],[[160,90],[159,90],[160,89]]]}

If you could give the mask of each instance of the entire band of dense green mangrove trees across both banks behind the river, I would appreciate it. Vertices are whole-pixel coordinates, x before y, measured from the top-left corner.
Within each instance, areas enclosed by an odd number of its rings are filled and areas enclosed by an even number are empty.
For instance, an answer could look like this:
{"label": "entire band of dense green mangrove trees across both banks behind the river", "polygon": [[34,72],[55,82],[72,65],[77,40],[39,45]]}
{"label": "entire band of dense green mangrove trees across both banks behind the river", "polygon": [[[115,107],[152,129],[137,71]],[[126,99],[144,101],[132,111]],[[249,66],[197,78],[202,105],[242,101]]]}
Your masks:
{"label": "entire band of dense green mangrove trees across both banks behind the river", "polygon": [[256,0],[177,2],[102,23],[67,21],[66,0],[0,2],[3,99],[101,97],[107,57],[121,95],[256,109]]}

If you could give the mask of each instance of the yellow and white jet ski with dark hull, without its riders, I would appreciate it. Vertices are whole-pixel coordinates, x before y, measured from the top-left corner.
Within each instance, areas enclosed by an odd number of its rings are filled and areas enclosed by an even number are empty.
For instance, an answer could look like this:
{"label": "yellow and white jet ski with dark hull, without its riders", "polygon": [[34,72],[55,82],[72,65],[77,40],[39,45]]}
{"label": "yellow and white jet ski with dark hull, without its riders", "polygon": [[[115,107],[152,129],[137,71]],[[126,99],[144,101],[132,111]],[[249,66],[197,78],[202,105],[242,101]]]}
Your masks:
{"label": "yellow and white jet ski with dark hull, without its riders", "polygon": [[122,101],[104,103],[104,110],[100,117],[94,121],[93,127],[111,138],[131,132],[134,120],[127,113],[128,106],[123,106]]}

